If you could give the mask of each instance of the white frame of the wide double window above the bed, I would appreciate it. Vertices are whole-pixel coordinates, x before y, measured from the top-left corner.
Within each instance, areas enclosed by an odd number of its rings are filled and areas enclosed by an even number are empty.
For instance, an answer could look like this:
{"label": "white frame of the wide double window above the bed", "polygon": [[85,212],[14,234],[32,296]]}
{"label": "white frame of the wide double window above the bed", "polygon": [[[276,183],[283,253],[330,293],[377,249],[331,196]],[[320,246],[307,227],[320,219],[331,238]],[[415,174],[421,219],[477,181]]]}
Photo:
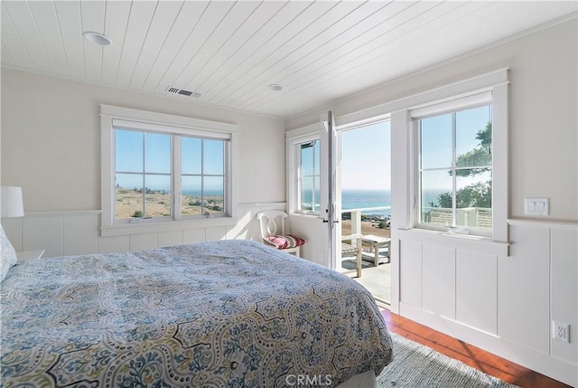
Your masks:
{"label": "white frame of the wide double window above the bed", "polygon": [[[138,232],[172,231],[185,228],[202,227],[209,224],[229,224],[237,216],[237,168],[238,166],[238,128],[237,125],[200,118],[187,118],[139,109],[127,109],[111,105],[100,105],[101,123],[101,234],[103,236]],[[182,216],[179,206],[181,193],[172,190],[172,217],[154,217],[152,219],[130,222],[115,217],[115,130],[132,129],[139,132],[164,133],[173,135],[172,154],[180,160],[180,138],[203,137],[226,139],[228,148],[225,163],[225,209],[224,216]],[[180,166],[172,163],[172,176],[180,176]],[[177,187],[180,185],[177,185]],[[175,185],[172,185],[174,188]]]}

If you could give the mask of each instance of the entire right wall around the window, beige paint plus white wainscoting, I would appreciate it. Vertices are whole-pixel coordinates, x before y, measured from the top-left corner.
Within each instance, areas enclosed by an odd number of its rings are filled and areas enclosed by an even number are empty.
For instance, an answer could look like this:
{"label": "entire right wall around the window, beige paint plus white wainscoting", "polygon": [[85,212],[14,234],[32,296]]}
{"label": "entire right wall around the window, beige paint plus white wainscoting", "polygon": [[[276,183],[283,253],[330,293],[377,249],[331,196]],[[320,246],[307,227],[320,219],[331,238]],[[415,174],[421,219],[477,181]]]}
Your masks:
{"label": "entire right wall around the window, beige paint plus white wainscoting", "polygon": [[[338,124],[350,114],[358,118],[387,114],[391,112],[379,111],[379,106],[508,68],[509,255],[445,236],[396,230],[396,222],[406,220],[409,213],[403,185],[409,159],[406,133],[397,133],[392,123],[392,155],[396,153],[392,201],[402,198],[392,207],[392,310],[574,386],[578,385],[577,36],[573,18],[287,123],[288,130],[303,128],[328,109]],[[532,196],[550,198],[549,216],[540,220],[525,216],[524,197]],[[571,344],[551,338],[552,320],[570,324]]]}

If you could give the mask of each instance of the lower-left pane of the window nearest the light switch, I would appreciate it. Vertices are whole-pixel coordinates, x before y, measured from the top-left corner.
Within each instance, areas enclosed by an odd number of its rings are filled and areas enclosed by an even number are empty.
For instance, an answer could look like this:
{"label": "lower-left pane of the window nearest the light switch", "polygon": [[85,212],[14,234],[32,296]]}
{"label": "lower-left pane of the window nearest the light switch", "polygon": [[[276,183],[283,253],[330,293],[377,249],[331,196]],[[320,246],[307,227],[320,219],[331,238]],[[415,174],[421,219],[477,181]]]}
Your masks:
{"label": "lower-left pane of the window nearest the light switch", "polygon": [[421,175],[421,222],[452,226],[452,176],[447,171]]}

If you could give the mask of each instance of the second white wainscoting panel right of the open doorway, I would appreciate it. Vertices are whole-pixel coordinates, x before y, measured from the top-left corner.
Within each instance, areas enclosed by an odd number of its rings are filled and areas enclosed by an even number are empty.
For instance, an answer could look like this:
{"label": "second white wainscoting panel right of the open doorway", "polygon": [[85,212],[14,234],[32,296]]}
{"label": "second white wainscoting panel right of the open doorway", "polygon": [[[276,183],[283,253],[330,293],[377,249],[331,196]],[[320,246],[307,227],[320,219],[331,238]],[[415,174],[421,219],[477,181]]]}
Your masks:
{"label": "second white wainscoting panel right of the open doorway", "polygon": [[422,260],[424,310],[455,319],[455,249],[424,244]]}

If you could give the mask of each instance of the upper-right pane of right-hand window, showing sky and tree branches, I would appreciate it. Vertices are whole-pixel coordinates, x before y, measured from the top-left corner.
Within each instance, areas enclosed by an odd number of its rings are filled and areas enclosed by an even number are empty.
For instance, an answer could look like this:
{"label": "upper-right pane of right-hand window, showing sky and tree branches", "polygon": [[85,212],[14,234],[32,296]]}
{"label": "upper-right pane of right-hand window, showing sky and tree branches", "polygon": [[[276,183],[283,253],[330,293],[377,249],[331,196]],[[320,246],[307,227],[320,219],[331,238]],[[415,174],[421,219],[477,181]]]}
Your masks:
{"label": "upper-right pane of right-hand window, showing sky and tree branches", "polygon": [[456,166],[491,165],[489,106],[456,113]]}

